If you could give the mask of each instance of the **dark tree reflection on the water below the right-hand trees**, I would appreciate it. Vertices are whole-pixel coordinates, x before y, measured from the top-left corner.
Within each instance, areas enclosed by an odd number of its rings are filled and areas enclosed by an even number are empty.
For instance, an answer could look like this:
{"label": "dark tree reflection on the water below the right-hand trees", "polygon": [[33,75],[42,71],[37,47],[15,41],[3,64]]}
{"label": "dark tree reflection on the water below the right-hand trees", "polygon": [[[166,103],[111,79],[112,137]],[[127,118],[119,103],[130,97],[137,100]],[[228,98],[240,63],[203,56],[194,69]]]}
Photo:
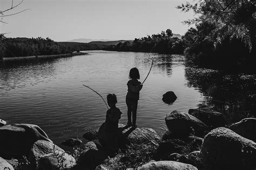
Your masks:
{"label": "dark tree reflection on the water below the right-hand trees", "polygon": [[256,94],[255,75],[231,74],[187,65],[185,76],[187,86],[197,87],[208,96],[207,104],[213,104],[218,111],[223,112],[228,123],[256,116],[253,98]]}

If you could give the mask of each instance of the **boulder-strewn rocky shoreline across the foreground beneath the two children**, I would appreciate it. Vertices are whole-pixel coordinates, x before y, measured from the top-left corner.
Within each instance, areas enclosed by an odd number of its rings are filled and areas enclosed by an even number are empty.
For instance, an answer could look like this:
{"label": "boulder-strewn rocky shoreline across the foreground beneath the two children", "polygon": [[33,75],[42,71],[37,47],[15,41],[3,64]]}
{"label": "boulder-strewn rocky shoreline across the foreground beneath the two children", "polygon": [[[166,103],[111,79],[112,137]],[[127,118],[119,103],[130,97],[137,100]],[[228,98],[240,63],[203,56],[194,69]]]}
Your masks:
{"label": "boulder-strewn rocky shoreline across the foreground beneath the two children", "polygon": [[83,135],[87,142],[68,139],[65,152],[37,125],[0,121],[0,169],[255,169],[256,118],[232,125],[212,107],[173,111],[165,118],[163,137],[150,128],[119,124],[120,149],[108,155],[97,131]]}

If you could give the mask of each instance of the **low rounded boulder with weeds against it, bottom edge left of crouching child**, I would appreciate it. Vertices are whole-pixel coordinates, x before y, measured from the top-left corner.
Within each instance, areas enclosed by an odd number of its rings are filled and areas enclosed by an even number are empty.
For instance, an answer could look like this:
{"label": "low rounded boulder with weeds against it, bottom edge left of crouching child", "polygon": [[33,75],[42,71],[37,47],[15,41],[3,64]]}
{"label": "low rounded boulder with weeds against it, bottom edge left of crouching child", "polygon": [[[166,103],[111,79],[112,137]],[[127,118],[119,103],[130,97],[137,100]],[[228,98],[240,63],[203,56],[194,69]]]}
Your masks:
{"label": "low rounded boulder with weeds against it, bottom edge left of crouching child", "polygon": [[51,152],[39,159],[40,170],[70,169],[75,165],[75,158],[65,152]]}

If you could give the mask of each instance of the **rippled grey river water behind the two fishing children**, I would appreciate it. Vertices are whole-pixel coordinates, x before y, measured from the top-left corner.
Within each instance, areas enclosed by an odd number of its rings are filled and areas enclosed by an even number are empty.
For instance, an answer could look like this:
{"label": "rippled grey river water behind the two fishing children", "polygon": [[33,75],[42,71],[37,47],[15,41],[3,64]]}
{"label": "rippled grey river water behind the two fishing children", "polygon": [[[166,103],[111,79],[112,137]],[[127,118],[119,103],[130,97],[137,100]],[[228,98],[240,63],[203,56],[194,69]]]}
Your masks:
{"label": "rippled grey river water behind the two fishing children", "polygon": [[[129,70],[137,67],[140,81],[143,81],[152,60],[151,73],[140,91],[138,128],[152,128],[161,136],[167,130],[167,114],[173,110],[187,112],[212,98],[203,85],[193,80],[191,73],[197,75],[197,72],[193,66],[187,65],[182,55],[106,51],[87,53],[71,58],[1,63],[0,118],[8,124],[36,124],[56,144],[71,137],[82,139],[86,131],[99,128],[105,121],[107,110],[102,98],[82,85],[85,84],[105,100],[107,94],[116,94],[117,107],[123,112],[119,122],[125,124]],[[210,77],[218,73],[208,69],[200,72],[207,73],[206,78],[209,77],[208,73]],[[246,76],[246,80],[255,83],[254,75]],[[209,80],[202,82],[212,84]],[[178,98],[173,104],[165,104],[161,100],[162,95],[170,90]],[[219,91],[222,94],[221,89]]]}

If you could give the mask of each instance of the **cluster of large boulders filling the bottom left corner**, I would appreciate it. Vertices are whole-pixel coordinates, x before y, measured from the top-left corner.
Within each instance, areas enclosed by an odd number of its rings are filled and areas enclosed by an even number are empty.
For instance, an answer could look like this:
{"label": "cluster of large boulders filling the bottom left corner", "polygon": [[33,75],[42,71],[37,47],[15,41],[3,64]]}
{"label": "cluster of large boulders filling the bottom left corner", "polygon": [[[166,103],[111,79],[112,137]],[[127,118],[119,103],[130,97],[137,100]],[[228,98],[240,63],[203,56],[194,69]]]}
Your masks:
{"label": "cluster of large boulders filling the bottom left corner", "polygon": [[37,125],[3,125],[0,136],[0,169],[70,169],[76,164]]}

